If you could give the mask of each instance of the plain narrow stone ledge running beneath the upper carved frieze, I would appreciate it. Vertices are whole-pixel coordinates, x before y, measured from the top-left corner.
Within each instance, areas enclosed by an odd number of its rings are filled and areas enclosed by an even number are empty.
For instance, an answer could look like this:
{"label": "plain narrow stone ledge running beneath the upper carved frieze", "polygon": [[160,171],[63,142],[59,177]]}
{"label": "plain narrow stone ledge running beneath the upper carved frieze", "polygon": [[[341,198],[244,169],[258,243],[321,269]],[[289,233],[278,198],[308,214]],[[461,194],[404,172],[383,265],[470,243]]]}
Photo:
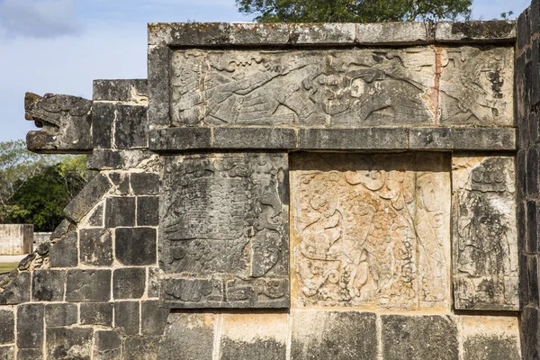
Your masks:
{"label": "plain narrow stone ledge running beneath the upper carved frieze", "polygon": [[149,149],[192,150],[516,150],[514,128],[168,128],[154,130]]}

